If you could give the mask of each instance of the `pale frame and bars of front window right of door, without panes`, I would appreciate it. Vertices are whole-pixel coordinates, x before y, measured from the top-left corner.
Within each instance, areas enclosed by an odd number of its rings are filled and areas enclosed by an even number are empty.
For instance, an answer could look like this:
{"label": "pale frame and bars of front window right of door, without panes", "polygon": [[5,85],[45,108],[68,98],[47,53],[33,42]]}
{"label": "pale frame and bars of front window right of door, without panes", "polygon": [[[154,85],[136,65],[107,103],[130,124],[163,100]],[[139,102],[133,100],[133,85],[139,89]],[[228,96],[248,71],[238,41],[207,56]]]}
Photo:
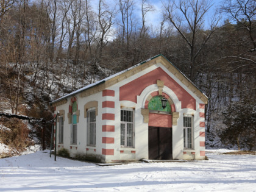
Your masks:
{"label": "pale frame and bars of front window right of door, without panes", "polygon": [[[191,122],[185,125],[185,118],[190,118]],[[190,130],[190,137],[188,137]],[[189,139],[191,141],[189,141]],[[183,148],[184,149],[194,149],[194,116],[184,115],[183,116]]]}

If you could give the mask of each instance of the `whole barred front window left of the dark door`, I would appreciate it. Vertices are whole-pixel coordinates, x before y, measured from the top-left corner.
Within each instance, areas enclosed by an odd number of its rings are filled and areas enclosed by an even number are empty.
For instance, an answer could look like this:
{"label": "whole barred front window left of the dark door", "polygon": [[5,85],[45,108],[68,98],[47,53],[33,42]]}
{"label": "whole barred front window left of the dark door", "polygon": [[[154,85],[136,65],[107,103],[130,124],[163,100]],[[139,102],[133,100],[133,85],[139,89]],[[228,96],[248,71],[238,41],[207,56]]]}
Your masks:
{"label": "whole barred front window left of the dark door", "polygon": [[120,143],[124,147],[134,147],[133,110],[121,109]]}

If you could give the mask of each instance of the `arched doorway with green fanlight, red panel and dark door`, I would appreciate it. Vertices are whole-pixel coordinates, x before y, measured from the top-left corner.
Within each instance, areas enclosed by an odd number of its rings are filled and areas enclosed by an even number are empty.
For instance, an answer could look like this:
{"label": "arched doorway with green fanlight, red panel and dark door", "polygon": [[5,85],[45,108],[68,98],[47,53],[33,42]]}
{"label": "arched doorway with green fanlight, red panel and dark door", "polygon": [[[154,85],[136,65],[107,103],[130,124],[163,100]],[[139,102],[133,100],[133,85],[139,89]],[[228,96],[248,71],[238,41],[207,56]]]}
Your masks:
{"label": "arched doorway with green fanlight, red panel and dark door", "polygon": [[162,96],[154,96],[149,108],[149,159],[172,159],[172,114],[167,102],[162,108]]}

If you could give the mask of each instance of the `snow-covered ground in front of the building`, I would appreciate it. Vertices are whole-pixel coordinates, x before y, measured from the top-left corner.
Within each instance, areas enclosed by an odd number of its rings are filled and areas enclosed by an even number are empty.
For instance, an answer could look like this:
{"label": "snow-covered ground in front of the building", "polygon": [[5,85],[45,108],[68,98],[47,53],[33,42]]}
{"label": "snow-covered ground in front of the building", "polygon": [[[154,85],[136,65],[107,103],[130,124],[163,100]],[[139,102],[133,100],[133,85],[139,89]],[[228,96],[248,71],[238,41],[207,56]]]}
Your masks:
{"label": "snow-covered ground in front of the building", "polygon": [[256,156],[98,166],[42,151],[0,159],[0,191],[256,191]]}

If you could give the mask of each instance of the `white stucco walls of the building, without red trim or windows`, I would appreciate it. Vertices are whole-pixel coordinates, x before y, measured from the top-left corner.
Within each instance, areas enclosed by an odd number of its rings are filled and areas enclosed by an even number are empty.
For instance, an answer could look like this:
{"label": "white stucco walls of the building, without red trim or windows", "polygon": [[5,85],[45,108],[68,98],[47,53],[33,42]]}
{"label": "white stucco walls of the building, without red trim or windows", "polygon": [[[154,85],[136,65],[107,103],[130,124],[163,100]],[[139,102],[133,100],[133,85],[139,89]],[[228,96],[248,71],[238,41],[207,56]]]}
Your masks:
{"label": "white stucco walls of the building, without red trim or windows", "polygon": [[[127,84],[138,77],[143,76],[146,73],[156,69],[162,68],[172,79],[181,85],[194,99],[196,99],[196,110],[190,108],[181,108],[181,102],[177,98],[174,91],[168,87],[163,87],[163,92],[168,94],[175,104],[176,112],[179,112],[179,118],[177,119],[177,126],[172,126],[172,157],[173,159],[191,159],[196,158],[198,160],[204,159],[201,155],[201,151],[204,151],[204,146],[200,146],[200,141],[204,141],[204,137],[200,137],[199,133],[204,132],[204,127],[199,126],[199,122],[204,122],[204,118],[199,116],[199,112],[204,113],[204,109],[199,108],[199,104],[204,102],[190,91],[185,85],[177,79],[172,73],[168,71],[161,63],[157,63],[149,68],[144,69],[140,73],[128,77],[127,79],[118,82],[107,90],[115,91],[115,96],[102,96],[102,91],[85,98],[80,98],[79,93],[76,95],[78,110],[80,110],[79,123],[77,123],[77,144],[70,144],[71,135],[71,124],[68,124],[68,108],[72,97],[68,98],[66,104],[56,107],[56,111],[65,110],[65,121],[64,121],[64,143],[59,144],[59,130],[57,130],[57,147],[60,149],[66,148],[70,151],[71,156],[75,157],[76,154],[94,155],[102,159],[102,162],[118,162],[122,160],[140,160],[141,158],[148,158],[148,123],[143,122],[143,115],[141,115],[141,108],[144,108],[146,98],[154,91],[158,91],[156,84],[149,85],[146,87],[140,96],[137,96],[137,103],[131,101],[119,101],[119,87]],[[84,105],[90,101],[98,101],[98,116],[96,116],[96,146],[87,146],[87,118],[84,118]],[[103,101],[115,102],[115,108],[102,108]],[[135,147],[134,148],[121,148],[120,146],[120,115],[121,106],[135,108]],[[113,113],[115,114],[115,120],[102,120],[102,113]],[[194,116],[194,149],[186,151],[183,149],[183,114]],[[102,132],[103,125],[115,126],[115,132]],[[59,124],[57,125],[59,129]],[[102,137],[114,138],[114,143],[102,143]],[[70,147],[72,146],[72,149]],[[112,155],[102,155],[103,149],[113,149]],[[191,155],[191,152],[194,155]],[[186,154],[184,154],[186,153]]]}

